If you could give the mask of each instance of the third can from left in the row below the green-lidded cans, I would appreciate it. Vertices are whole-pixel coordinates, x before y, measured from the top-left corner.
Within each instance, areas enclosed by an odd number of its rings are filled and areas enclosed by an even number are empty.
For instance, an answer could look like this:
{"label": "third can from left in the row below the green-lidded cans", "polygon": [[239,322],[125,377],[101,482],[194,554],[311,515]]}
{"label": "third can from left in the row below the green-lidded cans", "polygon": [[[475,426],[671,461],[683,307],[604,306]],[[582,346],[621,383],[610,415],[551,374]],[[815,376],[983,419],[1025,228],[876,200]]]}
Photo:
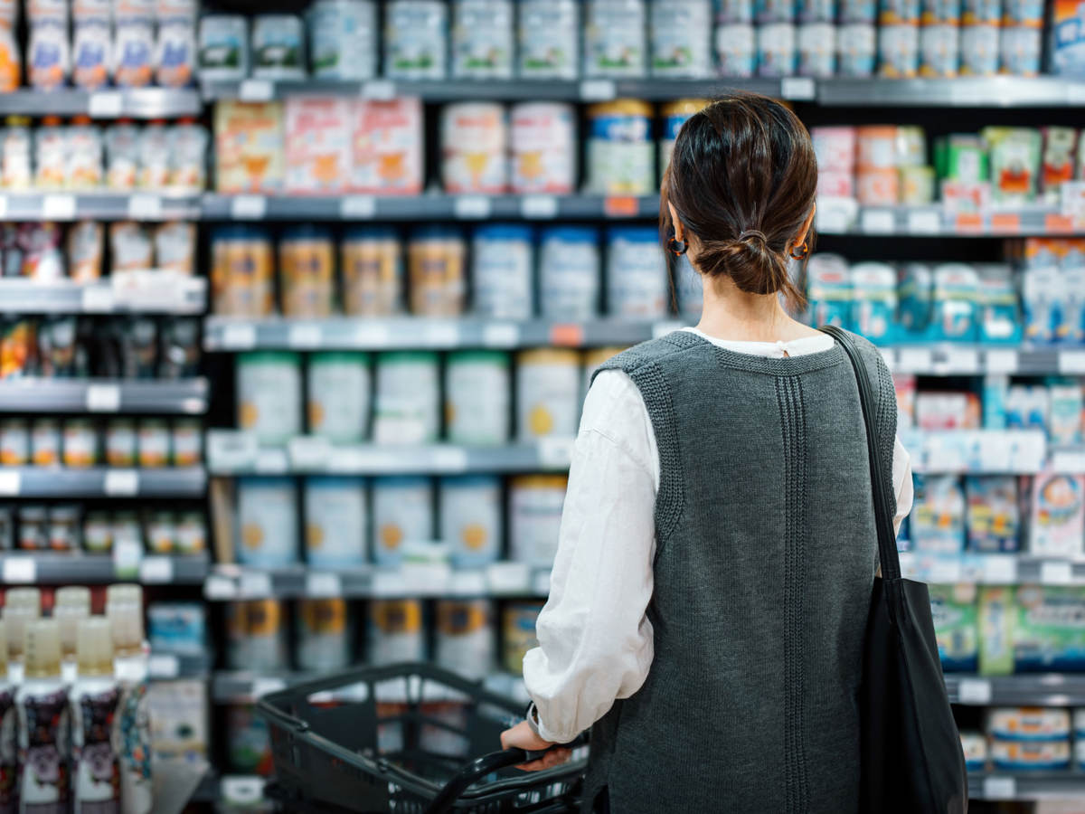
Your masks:
{"label": "third can from left in the row below the green-lidded cans", "polygon": [[397,565],[405,543],[433,539],[433,486],[429,478],[373,480],[373,560]]}

